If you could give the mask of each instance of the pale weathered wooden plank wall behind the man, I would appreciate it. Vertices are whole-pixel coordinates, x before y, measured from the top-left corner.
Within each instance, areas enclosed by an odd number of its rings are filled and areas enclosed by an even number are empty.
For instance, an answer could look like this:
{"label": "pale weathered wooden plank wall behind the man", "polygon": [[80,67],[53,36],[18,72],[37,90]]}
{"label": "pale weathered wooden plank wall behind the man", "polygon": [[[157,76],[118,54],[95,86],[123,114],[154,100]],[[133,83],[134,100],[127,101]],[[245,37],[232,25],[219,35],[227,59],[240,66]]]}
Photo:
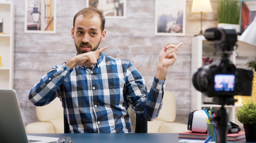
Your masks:
{"label": "pale weathered wooden plank wall behind the man", "polygon": [[[34,105],[28,101],[30,89],[52,67],[76,54],[71,37],[73,16],[85,6],[85,0],[58,0],[56,34],[24,33],[24,0],[15,4],[14,89],[25,124],[36,121]],[[212,13],[203,14],[203,31],[216,27],[217,0],[211,0]],[[177,114],[188,115],[191,91],[191,38],[200,31],[200,13],[191,13],[192,0],[186,0],[186,35],[155,36],[155,0],[127,0],[126,19],[107,19],[104,54],[131,61],[146,80],[148,89],[155,75],[159,51],[170,41],[184,42],[177,61],[169,67],[166,90],[175,93]]]}

